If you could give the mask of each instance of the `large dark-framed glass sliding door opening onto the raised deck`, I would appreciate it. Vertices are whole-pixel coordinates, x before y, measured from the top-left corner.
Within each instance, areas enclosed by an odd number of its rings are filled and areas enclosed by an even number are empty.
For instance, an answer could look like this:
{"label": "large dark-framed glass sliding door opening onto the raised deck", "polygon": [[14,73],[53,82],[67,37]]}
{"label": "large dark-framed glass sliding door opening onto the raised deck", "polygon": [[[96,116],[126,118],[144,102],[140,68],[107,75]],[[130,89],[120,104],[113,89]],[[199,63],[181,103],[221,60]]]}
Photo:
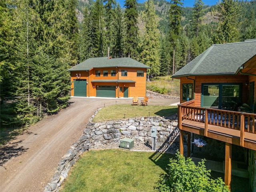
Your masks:
{"label": "large dark-framed glass sliding door opening onto the raised deck", "polygon": [[242,84],[202,84],[201,106],[236,110],[242,102]]}

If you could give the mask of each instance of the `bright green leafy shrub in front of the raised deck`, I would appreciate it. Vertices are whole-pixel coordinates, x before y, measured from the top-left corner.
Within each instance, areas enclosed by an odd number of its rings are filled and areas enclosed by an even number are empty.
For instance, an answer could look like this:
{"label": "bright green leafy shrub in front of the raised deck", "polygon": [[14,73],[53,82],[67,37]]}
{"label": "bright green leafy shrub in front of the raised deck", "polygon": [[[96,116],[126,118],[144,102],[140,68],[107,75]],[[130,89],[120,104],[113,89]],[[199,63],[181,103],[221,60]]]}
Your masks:
{"label": "bright green leafy shrub in front of the raised deck", "polygon": [[205,160],[196,165],[191,158],[185,159],[179,152],[176,156],[177,159],[170,159],[167,173],[160,175],[156,189],[161,192],[229,192],[221,178],[210,178]]}

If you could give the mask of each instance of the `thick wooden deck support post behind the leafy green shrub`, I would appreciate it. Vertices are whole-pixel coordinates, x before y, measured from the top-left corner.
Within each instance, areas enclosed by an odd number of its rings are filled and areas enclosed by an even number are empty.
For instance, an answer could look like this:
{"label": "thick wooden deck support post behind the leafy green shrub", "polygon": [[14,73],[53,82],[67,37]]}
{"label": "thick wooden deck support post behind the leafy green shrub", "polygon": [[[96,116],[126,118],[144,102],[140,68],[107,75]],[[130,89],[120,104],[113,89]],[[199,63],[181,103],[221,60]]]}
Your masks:
{"label": "thick wooden deck support post behind the leafy green shrub", "polygon": [[225,143],[225,184],[228,185],[230,190],[231,182],[231,153],[232,153],[232,144]]}

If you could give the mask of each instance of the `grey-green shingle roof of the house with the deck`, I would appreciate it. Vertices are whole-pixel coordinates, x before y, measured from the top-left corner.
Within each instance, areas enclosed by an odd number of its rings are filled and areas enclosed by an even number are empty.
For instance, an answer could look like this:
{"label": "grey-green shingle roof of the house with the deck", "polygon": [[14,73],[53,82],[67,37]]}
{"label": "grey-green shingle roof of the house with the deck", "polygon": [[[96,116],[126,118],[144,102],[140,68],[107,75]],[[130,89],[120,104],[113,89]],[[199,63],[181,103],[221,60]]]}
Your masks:
{"label": "grey-green shingle roof of the house with the deck", "polygon": [[256,54],[256,39],[213,44],[172,77],[236,74],[242,64]]}

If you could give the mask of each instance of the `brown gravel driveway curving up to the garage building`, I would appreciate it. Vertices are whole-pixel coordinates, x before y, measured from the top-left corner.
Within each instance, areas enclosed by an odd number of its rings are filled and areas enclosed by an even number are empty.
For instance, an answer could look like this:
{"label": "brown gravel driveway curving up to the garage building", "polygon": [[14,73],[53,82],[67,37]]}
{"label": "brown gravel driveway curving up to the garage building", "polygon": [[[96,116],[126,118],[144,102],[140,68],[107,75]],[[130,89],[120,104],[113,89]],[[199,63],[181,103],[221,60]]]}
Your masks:
{"label": "brown gravel driveway curving up to the garage building", "polygon": [[[151,105],[169,105],[177,99],[149,99]],[[132,99],[71,98],[68,108],[48,116],[1,147],[0,191],[42,192],[61,157],[82,135],[97,108],[131,103]]]}

